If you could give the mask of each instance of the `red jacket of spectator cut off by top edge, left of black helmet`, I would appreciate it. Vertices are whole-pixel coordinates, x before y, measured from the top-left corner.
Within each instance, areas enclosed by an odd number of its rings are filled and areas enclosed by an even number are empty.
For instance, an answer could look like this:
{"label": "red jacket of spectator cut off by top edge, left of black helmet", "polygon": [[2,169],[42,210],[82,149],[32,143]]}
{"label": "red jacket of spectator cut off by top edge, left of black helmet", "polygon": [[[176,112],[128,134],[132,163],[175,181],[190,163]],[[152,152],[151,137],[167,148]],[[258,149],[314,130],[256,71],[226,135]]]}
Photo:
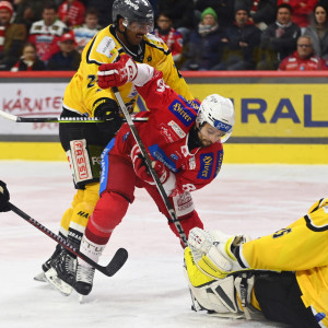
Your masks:
{"label": "red jacket of spectator cut off by top edge, left of black helmet", "polygon": [[59,7],[59,19],[69,27],[82,25],[84,22],[85,7],[78,0],[67,0]]}

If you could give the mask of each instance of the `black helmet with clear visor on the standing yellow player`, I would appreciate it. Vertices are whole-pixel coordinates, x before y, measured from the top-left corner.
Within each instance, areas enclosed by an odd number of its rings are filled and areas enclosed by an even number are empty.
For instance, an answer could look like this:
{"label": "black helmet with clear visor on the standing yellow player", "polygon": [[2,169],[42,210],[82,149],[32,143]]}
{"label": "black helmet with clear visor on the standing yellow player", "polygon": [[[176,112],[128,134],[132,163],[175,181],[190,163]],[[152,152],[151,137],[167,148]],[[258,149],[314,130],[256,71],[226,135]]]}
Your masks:
{"label": "black helmet with clear visor on the standing yellow player", "polygon": [[113,23],[117,26],[118,20],[124,19],[124,26],[129,28],[132,22],[154,30],[154,11],[148,0],[115,0],[113,3]]}

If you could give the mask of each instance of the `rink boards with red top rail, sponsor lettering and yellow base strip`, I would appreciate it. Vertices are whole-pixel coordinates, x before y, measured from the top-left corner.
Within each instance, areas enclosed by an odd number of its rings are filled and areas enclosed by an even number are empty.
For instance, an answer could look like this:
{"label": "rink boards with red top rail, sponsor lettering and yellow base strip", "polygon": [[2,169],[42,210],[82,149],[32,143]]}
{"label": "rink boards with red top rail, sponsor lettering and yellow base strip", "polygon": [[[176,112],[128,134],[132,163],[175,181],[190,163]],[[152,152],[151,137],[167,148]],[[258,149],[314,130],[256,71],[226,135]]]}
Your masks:
{"label": "rink boards with red top rail, sponsor lettering and yellow base strip", "polygon": [[[25,117],[59,116],[70,73],[0,73],[0,109]],[[219,93],[234,103],[226,163],[328,163],[327,72],[183,74],[200,101]],[[0,160],[66,161],[58,141],[58,124],[0,118]]]}

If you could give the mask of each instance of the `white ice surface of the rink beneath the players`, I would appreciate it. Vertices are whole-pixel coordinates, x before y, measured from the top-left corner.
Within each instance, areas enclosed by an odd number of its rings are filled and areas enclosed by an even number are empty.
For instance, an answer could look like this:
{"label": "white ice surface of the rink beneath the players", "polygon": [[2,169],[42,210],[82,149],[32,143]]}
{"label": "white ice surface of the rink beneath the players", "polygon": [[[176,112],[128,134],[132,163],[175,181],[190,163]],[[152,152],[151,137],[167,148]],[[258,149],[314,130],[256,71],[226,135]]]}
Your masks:
{"label": "white ice surface of the rink beneath the players", "polygon": [[[253,237],[284,227],[327,197],[328,165],[223,165],[216,180],[194,192],[207,229]],[[0,161],[0,179],[13,204],[58,231],[74,190],[66,163]],[[284,327],[268,321],[210,317],[190,311],[183,274],[183,249],[164,216],[143,190],[116,229],[101,259],[118,247],[129,251],[113,278],[96,272],[93,292],[80,304],[33,277],[55,242],[16,214],[0,213],[1,327]]]}

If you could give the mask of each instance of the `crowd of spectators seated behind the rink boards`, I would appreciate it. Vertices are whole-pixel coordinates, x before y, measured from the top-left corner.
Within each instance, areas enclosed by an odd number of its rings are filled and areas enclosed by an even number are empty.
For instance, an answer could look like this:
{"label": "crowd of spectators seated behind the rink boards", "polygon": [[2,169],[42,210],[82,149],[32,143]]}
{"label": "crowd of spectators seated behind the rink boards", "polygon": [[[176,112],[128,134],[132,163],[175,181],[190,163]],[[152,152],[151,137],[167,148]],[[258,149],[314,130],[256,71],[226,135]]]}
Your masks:
{"label": "crowd of spectators seated behind the rink boards", "polygon": [[[0,0],[0,70],[77,70],[114,0]],[[328,0],[155,0],[180,70],[326,70]]]}

